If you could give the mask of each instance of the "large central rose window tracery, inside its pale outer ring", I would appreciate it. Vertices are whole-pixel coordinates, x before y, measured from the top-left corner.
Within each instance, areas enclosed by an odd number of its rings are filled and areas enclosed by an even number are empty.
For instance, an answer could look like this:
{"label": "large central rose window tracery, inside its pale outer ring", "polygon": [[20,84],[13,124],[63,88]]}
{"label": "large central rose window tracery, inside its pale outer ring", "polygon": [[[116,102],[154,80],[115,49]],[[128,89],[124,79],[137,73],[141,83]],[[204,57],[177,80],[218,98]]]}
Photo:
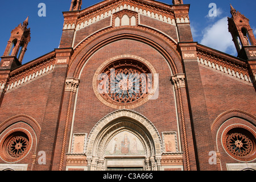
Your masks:
{"label": "large central rose window tracery, inside its pale outer ring", "polygon": [[115,105],[132,105],[147,97],[152,89],[150,69],[135,60],[119,60],[102,69],[97,89],[105,101]]}

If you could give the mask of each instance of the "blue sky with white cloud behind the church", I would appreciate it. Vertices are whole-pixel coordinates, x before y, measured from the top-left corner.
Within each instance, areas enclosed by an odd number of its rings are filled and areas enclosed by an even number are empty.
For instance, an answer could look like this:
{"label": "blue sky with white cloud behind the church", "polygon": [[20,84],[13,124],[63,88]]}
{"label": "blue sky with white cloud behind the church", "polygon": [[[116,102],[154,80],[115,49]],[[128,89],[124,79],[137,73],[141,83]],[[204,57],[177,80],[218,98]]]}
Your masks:
{"label": "blue sky with white cloud behind the church", "polygon": [[[189,18],[193,39],[205,46],[237,56],[231,35],[228,32],[227,17],[230,15],[230,3],[250,19],[250,26],[256,35],[255,0],[183,0],[190,4]],[[82,9],[92,6],[100,0],[83,1]],[[161,0],[172,4],[172,0]],[[242,3],[243,2],[243,3]],[[39,3],[46,4],[46,17],[39,17]],[[209,17],[210,3],[217,6],[217,16]],[[68,11],[71,0],[12,0],[2,1],[0,11],[0,56],[5,51],[10,32],[29,16],[28,27],[31,28],[31,42],[28,44],[23,64],[45,55],[59,47],[63,11]]]}

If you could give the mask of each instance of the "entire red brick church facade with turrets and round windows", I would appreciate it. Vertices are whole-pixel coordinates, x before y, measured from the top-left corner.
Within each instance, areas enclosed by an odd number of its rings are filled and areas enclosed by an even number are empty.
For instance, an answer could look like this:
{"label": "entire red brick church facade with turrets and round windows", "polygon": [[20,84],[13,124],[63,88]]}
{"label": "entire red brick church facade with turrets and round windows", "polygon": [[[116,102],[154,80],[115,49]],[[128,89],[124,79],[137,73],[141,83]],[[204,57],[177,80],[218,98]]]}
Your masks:
{"label": "entire red brick church facade with turrets and round windows", "polygon": [[193,41],[189,5],[105,0],[63,12],[59,48],[0,62],[0,169],[256,169],[256,40],[231,6],[238,56]]}

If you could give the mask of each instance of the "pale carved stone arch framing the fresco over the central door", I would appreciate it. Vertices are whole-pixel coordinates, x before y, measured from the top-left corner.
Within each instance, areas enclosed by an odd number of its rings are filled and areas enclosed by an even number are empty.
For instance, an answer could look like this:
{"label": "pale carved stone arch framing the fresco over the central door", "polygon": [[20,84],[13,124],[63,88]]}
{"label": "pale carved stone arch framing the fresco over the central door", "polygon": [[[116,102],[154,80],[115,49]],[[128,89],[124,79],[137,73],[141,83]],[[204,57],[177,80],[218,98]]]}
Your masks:
{"label": "pale carved stone arch framing the fresco over the central door", "polygon": [[[155,170],[160,166],[162,141],[155,126],[143,115],[123,109],[106,115],[90,132],[85,151],[90,170],[106,169],[106,148],[110,140],[121,133],[133,135],[143,146],[144,152],[137,154],[136,158],[144,160],[144,169]],[[119,157],[134,159],[134,155],[128,153],[114,156],[112,159]]]}

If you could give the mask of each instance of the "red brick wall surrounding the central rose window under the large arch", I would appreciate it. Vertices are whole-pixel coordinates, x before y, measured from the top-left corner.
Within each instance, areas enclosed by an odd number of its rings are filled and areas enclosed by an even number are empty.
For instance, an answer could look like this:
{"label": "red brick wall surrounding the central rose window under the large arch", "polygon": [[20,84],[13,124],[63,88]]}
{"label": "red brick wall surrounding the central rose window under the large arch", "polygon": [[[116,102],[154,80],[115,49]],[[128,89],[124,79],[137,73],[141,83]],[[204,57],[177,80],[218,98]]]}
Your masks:
{"label": "red brick wall surrounding the central rose window under the large arch", "polygon": [[150,61],[159,73],[159,98],[133,110],[147,117],[159,134],[163,131],[177,131],[174,90],[171,85],[171,72],[163,57],[150,46],[134,40],[119,40],[105,46],[91,57],[82,71],[76,104],[75,124],[73,133],[90,133],[92,127],[101,118],[115,109],[98,100],[93,88],[94,73],[104,61],[118,55],[137,55]]}

